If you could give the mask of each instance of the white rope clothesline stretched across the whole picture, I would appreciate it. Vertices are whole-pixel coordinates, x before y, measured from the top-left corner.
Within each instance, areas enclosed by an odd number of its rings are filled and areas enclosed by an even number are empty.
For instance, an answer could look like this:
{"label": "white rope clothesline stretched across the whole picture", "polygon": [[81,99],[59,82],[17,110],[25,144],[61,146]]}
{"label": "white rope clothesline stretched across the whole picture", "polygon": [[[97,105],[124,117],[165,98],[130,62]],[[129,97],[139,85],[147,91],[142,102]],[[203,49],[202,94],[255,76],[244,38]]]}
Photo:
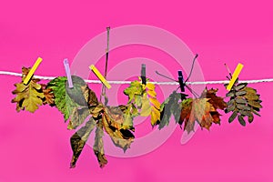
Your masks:
{"label": "white rope clothesline stretched across the whole picture", "polygon": [[[9,72],[9,71],[0,71],[0,75],[6,76],[22,76],[21,73]],[[56,76],[35,76],[35,78],[39,78],[42,80],[53,80]],[[101,84],[99,80],[85,80],[86,83],[89,84]],[[107,80],[109,84],[130,84],[130,81],[111,81]],[[273,82],[273,78],[267,79],[257,79],[257,80],[239,80],[239,83],[248,83],[248,84],[256,84],[256,83],[264,83],[264,82]],[[151,82],[155,85],[179,85],[178,82]],[[228,84],[228,80],[218,80],[218,81],[204,81],[204,82],[187,82],[187,85],[208,85],[208,84]]]}

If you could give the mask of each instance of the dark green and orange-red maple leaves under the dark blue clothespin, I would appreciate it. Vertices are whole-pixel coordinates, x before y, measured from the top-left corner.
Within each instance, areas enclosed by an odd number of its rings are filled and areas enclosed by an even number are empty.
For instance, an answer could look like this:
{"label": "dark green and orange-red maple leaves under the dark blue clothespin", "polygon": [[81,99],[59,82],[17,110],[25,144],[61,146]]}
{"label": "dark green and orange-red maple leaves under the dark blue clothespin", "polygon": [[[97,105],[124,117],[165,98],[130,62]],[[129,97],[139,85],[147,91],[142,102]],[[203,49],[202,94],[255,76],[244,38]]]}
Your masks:
{"label": "dark green and orange-red maple leaves under the dark blue clothespin", "polygon": [[196,122],[201,128],[205,127],[208,130],[212,123],[220,124],[221,115],[217,109],[224,110],[227,103],[216,94],[217,89],[207,88],[198,98],[187,98],[187,95],[173,92],[161,105],[159,129],[168,125],[171,115],[180,126],[184,124],[184,130],[188,133],[194,131]]}

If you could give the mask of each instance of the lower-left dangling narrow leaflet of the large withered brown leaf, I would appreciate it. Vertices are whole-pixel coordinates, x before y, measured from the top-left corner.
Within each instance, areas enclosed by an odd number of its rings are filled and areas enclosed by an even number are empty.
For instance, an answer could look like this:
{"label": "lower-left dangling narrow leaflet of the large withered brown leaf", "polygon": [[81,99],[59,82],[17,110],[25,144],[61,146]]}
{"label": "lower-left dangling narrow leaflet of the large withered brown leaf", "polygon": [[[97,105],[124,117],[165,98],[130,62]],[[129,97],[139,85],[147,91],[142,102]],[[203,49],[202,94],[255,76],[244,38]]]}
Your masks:
{"label": "lower-left dangling narrow leaflet of the large withered brown leaf", "polygon": [[89,121],[86,122],[86,126],[81,127],[70,138],[70,144],[73,151],[73,157],[70,162],[70,167],[76,167],[76,161],[82,153],[83,148],[86,146],[86,141],[88,140],[95,126],[95,120],[93,119],[93,117],[90,117]]}

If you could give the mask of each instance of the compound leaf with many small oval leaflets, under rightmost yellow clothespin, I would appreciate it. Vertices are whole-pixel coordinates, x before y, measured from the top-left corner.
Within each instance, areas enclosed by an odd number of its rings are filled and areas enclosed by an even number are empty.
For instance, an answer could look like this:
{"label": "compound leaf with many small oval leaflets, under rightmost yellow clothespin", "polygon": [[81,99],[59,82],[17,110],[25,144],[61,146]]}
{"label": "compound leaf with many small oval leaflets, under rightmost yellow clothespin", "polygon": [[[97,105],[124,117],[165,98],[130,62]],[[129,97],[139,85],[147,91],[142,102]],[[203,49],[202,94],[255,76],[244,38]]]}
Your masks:
{"label": "compound leaf with many small oval leaflets, under rightmost yellow clothespin", "polygon": [[225,112],[232,112],[232,115],[228,118],[229,123],[238,117],[239,123],[242,126],[246,126],[244,117],[248,116],[248,123],[252,123],[254,119],[253,114],[260,116],[258,112],[262,107],[260,105],[262,101],[257,94],[257,90],[248,87],[247,83],[238,84],[237,80],[231,90],[227,93],[227,97],[229,97],[229,101],[227,102],[227,109],[225,109]]}

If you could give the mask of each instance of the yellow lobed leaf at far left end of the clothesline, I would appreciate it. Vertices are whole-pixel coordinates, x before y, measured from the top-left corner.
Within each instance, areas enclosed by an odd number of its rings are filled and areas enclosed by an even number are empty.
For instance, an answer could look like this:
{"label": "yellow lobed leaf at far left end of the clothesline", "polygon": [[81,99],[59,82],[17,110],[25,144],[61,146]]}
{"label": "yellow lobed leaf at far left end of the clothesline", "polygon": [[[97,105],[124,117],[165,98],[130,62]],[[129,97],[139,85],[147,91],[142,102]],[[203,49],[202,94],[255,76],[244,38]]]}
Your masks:
{"label": "yellow lobed leaf at far left end of the clothesline", "polygon": [[34,113],[38,106],[43,104],[43,99],[45,98],[42,86],[37,84],[40,81],[39,79],[32,78],[27,85],[23,83],[29,70],[30,68],[22,68],[22,82],[15,84],[16,89],[12,92],[16,95],[12,99],[12,103],[16,103],[17,112],[25,109]]}

